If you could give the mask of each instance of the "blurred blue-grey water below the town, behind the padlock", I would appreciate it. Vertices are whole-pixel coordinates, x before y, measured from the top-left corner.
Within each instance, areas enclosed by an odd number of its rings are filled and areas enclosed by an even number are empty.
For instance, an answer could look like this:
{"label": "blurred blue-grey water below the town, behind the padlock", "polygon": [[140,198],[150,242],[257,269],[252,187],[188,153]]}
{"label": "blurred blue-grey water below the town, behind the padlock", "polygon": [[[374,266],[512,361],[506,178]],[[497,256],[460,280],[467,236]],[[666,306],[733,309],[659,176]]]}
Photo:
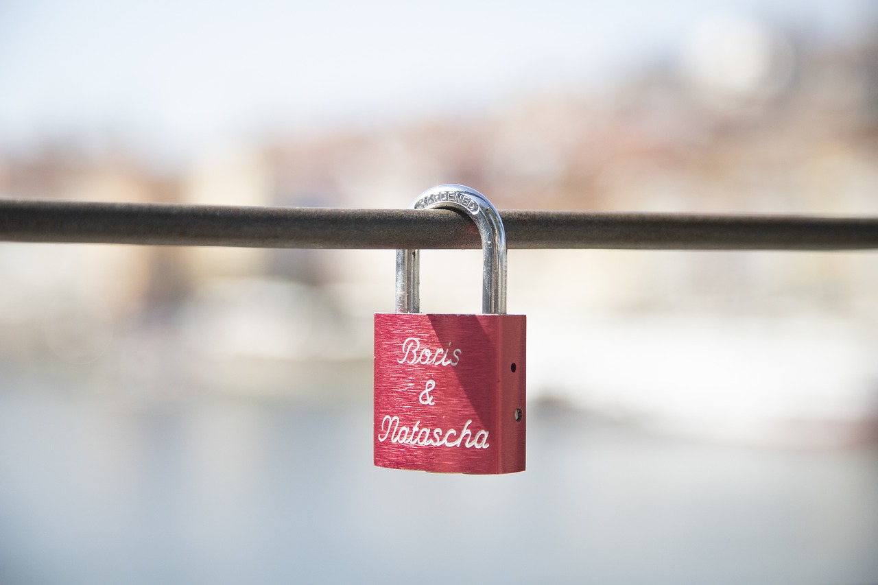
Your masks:
{"label": "blurred blue-grey water below the town, behind the padlock", "polygon": [[344,403],[133,405],[0,376],[0,582],[878,582],[878,448],[529,410],[526,473],[371,465]]}

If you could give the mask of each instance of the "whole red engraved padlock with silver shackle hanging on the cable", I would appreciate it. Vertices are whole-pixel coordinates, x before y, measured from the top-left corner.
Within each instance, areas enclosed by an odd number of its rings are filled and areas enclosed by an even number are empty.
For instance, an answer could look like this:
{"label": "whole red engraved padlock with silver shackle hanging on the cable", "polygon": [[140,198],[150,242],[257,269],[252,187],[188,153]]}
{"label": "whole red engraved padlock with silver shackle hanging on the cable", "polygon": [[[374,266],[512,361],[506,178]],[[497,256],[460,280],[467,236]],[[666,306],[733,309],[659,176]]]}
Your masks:
{"label": "whole red engraved padlock with silver shackle hanging on the cable", "polygon": [[443,184],[415,209],[464,212],[482,239],[483,314],[421,314],[418,250],[396,251],[396,313],[375,314],[375,465],[524,471],[526,317],[506,314],[506,233],[479,191]]}

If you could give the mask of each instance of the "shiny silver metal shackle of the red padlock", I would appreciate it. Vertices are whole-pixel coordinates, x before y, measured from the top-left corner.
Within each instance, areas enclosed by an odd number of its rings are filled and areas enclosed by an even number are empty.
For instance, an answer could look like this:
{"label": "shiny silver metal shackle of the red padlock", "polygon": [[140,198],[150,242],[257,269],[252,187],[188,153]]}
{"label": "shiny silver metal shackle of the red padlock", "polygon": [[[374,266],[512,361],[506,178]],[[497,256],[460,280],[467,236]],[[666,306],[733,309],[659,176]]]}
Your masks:
{"label": "shiny silver metal shackle of the red padlock", "polygon": [[[506,314],[506,231],[500,213],[484,195],[462,184],[441,184],[421,193],[413,209],[457,209],[482,238],[482,313]],[[396,250],[396,311],[420,313],[420,250]]]}

